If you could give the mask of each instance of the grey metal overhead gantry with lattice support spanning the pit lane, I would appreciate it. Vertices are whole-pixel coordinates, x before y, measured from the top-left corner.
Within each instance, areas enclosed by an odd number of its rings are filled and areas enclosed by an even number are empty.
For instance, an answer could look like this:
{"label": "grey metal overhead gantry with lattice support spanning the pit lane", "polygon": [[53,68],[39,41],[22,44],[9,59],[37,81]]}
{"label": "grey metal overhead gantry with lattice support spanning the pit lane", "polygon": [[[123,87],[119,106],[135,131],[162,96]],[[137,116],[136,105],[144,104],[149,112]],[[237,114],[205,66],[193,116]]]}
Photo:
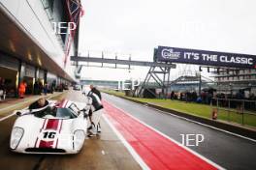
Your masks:
{"label": "grey metal overhead gantry with lattice support spanning the pit lane", "polygon": [[129,57],[128,60],[120,60],[117,59],[117,56],[115,56],[114,59],[110,59],[104,58],[103,53],[101,57],[90,57],[89,55],[71,56],[71,61],[73,61],[73,65],[77,67],[77,71],[80,71],[82,66],[90,67],[85,63],[101,63],[102,65],[98,67],[102,68],[110,68],[109,66],[104,66],[104,64],[113,64],[113,69],[118,69],[117,65],[126,65],[128,66],[128,70],[131,69],[131,66],[149,67],[149,71],[145,76],[143,84],[138,87],[133,93],[133,96],[138,97],[142,97],[145,90],[155,96],[155,93],[152,92],[148,86],[150,80],[153,80],[156,82],[155,84],[159,86],[158,88],[162,89],[162,94],[166,98],[168,94],[168,85],[170,84],[170,71],[171,69],[176,69],[176,65],[170,62],[135,61],[131,60],[131,57]]}

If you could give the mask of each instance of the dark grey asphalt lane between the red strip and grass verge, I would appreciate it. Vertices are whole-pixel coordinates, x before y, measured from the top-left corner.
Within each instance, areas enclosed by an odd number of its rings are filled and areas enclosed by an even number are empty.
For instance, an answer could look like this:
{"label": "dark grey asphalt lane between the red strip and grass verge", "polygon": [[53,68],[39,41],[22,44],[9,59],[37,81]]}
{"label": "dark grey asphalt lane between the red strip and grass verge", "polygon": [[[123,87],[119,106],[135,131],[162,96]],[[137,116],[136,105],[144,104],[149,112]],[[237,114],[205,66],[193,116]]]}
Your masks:
{"label": "dark grey asphalt lane between the red strip and grass verge", "polygon": [[256,169],[256,143],[216,129],[204,127],[143,105],[104,95],[104,99],[152,128],[181,143],[180,134],[204,134],[205,141],[193,151],[227,169]]}

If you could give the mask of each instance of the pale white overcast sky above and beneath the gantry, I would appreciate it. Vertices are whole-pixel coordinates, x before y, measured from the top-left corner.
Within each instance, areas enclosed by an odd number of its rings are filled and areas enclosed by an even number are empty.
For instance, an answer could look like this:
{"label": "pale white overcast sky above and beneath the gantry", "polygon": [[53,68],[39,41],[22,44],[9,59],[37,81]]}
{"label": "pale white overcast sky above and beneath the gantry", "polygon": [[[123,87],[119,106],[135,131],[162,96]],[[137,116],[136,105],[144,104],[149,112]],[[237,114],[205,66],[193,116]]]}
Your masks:
{"label": "pale white overcast sky above and beneath the gantry", "polygon": [[[80,54],[153,60],[158,45],[256,54],[255,0],[81,0]],[[107,55],[108,54],[108,55]],[[195,66],[178,66],[172,78]],[[83,68],[91,79],[144,79],[132,71]],[[204,73],[208,75],[207,73]]]}

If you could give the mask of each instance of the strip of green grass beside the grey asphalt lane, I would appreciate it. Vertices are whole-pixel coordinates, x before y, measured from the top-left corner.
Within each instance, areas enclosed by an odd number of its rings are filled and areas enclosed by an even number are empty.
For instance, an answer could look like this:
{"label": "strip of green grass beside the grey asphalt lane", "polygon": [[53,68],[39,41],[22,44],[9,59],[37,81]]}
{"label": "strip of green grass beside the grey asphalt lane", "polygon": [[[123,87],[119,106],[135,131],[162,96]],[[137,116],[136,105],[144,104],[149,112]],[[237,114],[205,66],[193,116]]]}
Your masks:
{"label": "strip of green grass beside the grey asphalt lane", "polygon": [[[131,97],[126,97],[123,92],[116,92],[112,90],[103,90],[103,92],[106,92],[115,96],[119,96],[119,97],[124,97],[127,99],[134,99],[142,102],[155,104],[164,108],[170,108],[170,109],[187,113],[190,115],[211,119],[212,107],[210,105],[194,103],[194,102],[185,102],[180,100],[171,100],[171,99],[131,98]],[[236,110],[226,111],[226,110],[219,109],[218,120],[242,124],[242,115],[237,113]],[[256,113],[255,115],[244,114],[243,124],[245,126],[256,128]]]}

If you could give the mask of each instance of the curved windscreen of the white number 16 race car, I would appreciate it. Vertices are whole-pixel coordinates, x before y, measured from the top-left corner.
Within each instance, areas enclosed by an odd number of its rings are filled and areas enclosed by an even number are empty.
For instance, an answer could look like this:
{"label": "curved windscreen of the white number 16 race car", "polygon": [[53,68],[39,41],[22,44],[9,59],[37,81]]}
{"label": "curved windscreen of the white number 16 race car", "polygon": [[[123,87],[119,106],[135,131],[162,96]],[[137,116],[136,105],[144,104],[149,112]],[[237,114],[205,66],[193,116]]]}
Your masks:
{"label": "curved windscreen of the white number 16 race car", "polygon": [[70,108],[58,108],[58,107],[50,107],[37,111],[32,112],[35,117],[38,118],[45,118],[46,116],[52,116],[55,119],[74,119],[77,118],[77,114],[71,110]]}

